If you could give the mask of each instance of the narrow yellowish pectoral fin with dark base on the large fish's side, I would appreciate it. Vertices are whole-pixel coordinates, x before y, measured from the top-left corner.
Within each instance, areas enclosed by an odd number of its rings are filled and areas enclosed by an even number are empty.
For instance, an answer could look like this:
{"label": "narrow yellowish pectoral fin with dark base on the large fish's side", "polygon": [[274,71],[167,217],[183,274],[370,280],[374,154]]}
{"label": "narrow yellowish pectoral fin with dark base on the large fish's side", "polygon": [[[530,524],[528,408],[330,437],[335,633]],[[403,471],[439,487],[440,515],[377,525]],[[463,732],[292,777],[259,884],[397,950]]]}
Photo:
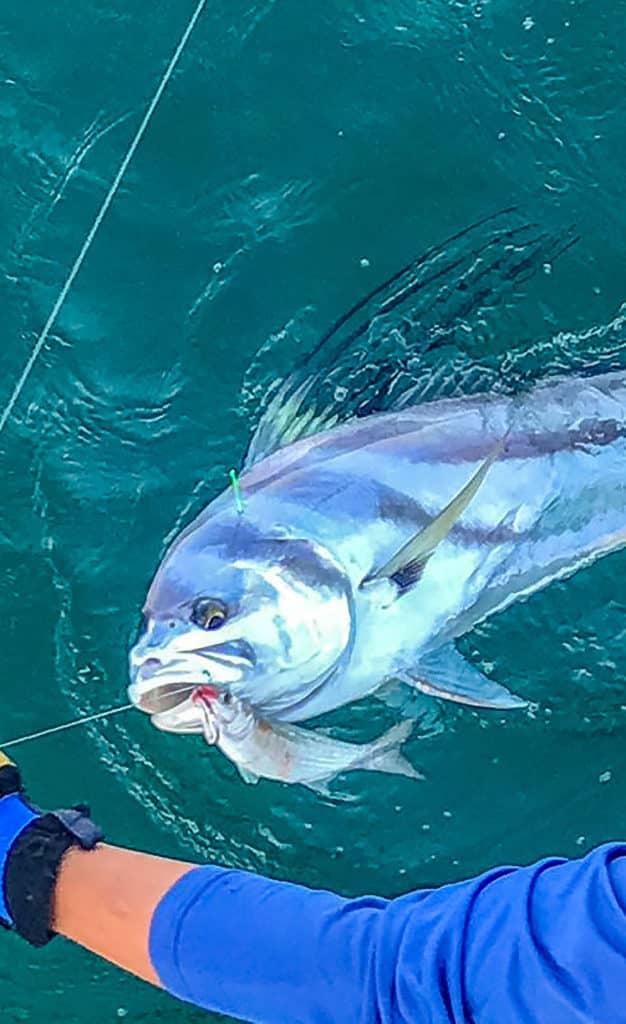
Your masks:
{"label": "narrow yellowish pectoral fin with dark base on the large fish's side", "polygon": [[493,463],[501,455],[505,441],[506,439],[496,445],[471,479],[449,502],[446,508],[424,529],[412,537],[388,562],[366,577],[362,586],[374,580],[387,579],[392,580],[400,592],[404,593],[417,583],[436,546],[446,539],[457,519],[462,516]]}

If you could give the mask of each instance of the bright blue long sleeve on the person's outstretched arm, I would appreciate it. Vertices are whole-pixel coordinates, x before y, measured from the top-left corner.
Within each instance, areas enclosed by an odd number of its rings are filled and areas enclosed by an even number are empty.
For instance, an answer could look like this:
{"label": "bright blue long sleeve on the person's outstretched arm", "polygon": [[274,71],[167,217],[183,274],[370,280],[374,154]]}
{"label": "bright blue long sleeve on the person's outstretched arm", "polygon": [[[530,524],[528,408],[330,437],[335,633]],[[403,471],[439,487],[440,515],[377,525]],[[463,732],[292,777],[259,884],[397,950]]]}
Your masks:
{"label": "bright blue long sleeve on the person's outstretched arm", "polygon": [[163,985],[259,1024],[626,1024],[626,845],[397,899],[199,867],[166,894]]}

